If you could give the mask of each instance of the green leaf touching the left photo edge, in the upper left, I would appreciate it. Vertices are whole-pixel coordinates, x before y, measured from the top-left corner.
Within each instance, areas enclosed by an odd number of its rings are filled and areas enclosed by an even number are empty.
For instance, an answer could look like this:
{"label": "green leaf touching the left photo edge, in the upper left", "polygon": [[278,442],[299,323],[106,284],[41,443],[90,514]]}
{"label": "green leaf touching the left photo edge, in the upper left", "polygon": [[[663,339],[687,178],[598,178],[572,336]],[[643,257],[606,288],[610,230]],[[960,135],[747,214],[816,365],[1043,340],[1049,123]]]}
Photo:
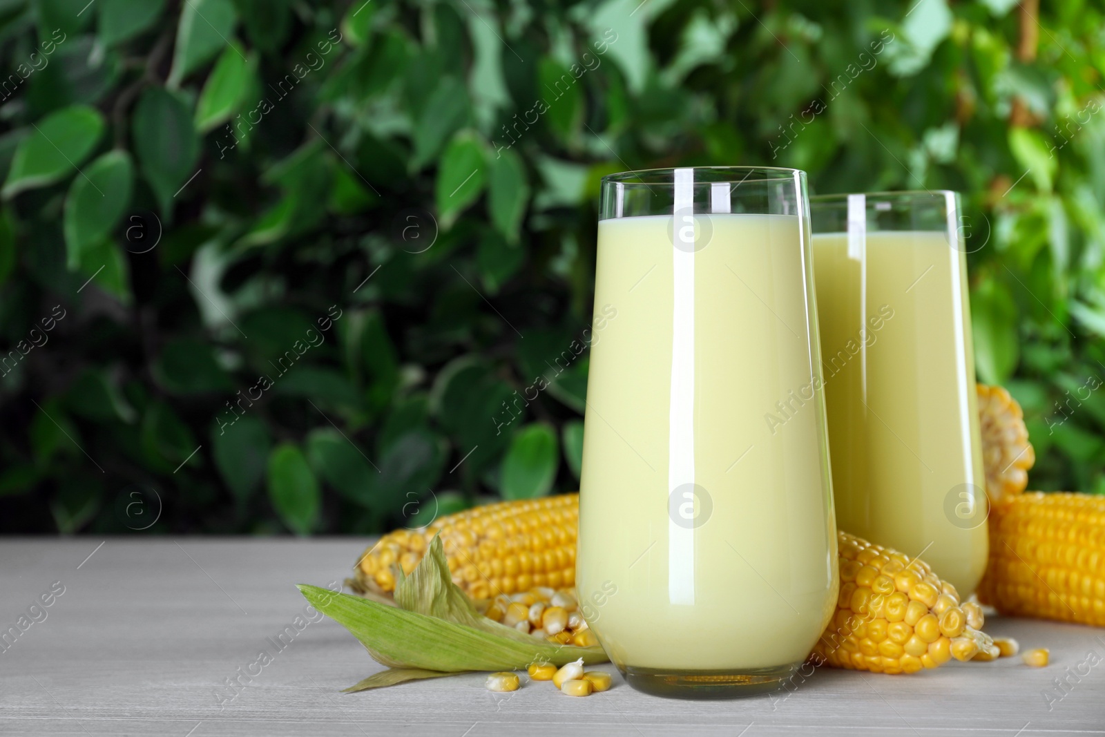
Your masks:
{"label": "green leaf touching the left photo edge, in the upper left", "polygon": [[72,105],[34,124],[20,141],[2,194],[51,185],[80,167],[104,133],[104,117],[92,107]]}

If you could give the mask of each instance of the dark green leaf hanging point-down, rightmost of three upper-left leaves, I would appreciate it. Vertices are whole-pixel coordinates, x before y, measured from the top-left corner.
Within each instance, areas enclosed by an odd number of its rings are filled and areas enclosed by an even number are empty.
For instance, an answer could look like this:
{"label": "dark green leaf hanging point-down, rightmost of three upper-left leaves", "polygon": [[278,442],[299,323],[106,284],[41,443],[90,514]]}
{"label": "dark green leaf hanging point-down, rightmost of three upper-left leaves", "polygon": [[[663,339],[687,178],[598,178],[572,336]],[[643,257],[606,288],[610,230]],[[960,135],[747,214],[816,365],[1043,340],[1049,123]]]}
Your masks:
{"label": "dark green leaf hanging point-down, rightmost of three upper-left leaves", "polygon": [[199,139],[188,105],[164,87],[150,87],[135,106],[134,139],[143,176],[161,212],[169,213],[173,197],[196,173],[199,158]]}

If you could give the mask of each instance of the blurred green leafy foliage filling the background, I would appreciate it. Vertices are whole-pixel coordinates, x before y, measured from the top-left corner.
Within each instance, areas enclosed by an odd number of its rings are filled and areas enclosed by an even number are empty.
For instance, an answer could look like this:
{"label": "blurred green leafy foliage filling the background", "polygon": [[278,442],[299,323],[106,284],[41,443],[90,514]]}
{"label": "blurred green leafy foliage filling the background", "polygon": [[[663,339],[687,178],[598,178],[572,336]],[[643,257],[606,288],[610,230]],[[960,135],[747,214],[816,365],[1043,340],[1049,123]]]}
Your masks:
{"label": "blurred green leafy foliage filling the background", "polygon": [[1105,492],[1102,3],[1012,6],[0,0],[0,530],[575,488],[598,181],[675,164],[964,192],[980,379]]}

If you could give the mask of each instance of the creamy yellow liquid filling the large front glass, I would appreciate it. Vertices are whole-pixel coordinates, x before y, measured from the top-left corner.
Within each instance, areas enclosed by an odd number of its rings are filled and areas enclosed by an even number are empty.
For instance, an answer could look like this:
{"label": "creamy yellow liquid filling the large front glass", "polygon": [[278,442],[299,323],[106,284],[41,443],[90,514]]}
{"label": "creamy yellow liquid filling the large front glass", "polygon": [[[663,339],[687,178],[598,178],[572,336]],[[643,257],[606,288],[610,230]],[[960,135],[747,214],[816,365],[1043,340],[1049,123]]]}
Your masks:
{"label": "creamy yellow liquid filling the large front glass", "polygon": [[[836,599],[821,392],[765,419],[820,372],[809,245],[797,217],[709,218],[693,254],[670,217],[599,223],[596,315],[617,317],[591,349],[577,587],[622,668],[797,663]],[[713,509],[687,529],[669,495],[692,478]]]}

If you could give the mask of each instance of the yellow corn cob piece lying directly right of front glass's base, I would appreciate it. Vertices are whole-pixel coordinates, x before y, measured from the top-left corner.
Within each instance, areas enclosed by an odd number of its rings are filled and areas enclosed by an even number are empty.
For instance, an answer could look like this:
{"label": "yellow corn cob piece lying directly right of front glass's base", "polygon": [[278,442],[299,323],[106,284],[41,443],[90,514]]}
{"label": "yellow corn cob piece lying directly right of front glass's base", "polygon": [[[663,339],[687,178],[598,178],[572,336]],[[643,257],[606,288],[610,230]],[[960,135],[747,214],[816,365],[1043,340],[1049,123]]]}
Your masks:
{"label": "yellow corn cob piece lying directly right of front glass's base", "polygon": [[840,598],[813,647],[815,663],[893,674],[979,653],[997,657],[989,635],[968,624],[955,588],[928,564],[848,533],[838,538]]}

